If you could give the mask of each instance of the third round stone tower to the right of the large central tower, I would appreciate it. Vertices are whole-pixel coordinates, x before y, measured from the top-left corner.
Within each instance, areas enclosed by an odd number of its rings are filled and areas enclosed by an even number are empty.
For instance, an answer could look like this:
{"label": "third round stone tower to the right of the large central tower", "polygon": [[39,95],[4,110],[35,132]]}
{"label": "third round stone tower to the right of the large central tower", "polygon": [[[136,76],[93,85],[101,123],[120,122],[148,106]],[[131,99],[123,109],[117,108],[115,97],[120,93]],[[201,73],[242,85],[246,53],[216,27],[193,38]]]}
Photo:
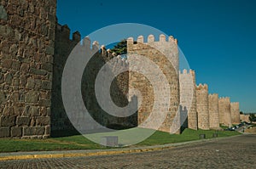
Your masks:
{"label": "third round stone tower to the right of the large central tower", "polygon": [[209,94],[209,121],[211,129],[220,129],[218,118],[218,94]]}

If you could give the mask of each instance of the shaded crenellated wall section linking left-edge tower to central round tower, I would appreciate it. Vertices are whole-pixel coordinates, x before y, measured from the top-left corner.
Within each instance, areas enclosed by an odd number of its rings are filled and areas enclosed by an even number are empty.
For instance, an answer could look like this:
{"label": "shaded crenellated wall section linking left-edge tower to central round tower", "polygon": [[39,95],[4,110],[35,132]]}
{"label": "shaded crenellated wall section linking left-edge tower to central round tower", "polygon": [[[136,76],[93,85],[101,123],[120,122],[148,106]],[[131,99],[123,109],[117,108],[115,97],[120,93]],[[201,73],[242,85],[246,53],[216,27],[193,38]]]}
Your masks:
{"label": "shaded crenellated wall section linking left-edge tower to central round tower", "polygon": [[[92,54],[89,63],[84,69],[84,75],[82,79],[82,95],[84,99],[84,104],[86,109],[90,112],[90,115],[97,121],[102,124],[102,126],[120,129],[126,127],[136,127],[137,126],[137,113],[130,115],[128,117],[114,117],[109,115],[107,112],[101,109],[99,106],[96,94],[95,94],[95,80],[99,70],[102,69],[103,65],[106,65],[108,60],[113,59],[114,65],[112,66],[112,72],[125,69],[128,66],[128,63],[125,59],[121,59],[116,54],[107,50],[104,46],[99,48],[98,42],[93,42],[91,45],[90,39],[85,37],[81,42],[79,32],[73,33],[73,39],[69,39],[70,29],[67,25],[57,25],[56,26],[56,38],[55,38],[55,60],[54,60],[54,80],[53,80],[53,96],[52,96],[52,115],[51,115],[51,124],[52,131],[60,130],[73,130],[73,124],[68,118],[67,112],[64,109],[62,96],[61,96],[61,76],[64,69],[64,66],[67,62],[69,54],[71,54],[73,48],[79,48],[82,54],[84,52],[84,57],[86,55]],[[92,48],[90,48],[92,46]],[[96,52],[97,51],[97,52]],[[108,65],[108,64],[107,64]],[[85,66],[85,65],[84,65]],[[107,77],[108,78],[108,77]],[[129,103],[126,98],[128,93],[128,83],[129,83],[129,72],[125,71],[113,80],[110,94],[113,99],[114,104],[117,104],[119,107],[124,107]],[[102,88],[104,84],[101,84]],[[107,100],[106,100],[107,101]],[[119,112],[125,113],[125,112]],[[79,118],[78,118],[79,120]],[[90,125],[90,124],[89,124]],[[86,127],[86,129],[96,129],[95,127]]]}

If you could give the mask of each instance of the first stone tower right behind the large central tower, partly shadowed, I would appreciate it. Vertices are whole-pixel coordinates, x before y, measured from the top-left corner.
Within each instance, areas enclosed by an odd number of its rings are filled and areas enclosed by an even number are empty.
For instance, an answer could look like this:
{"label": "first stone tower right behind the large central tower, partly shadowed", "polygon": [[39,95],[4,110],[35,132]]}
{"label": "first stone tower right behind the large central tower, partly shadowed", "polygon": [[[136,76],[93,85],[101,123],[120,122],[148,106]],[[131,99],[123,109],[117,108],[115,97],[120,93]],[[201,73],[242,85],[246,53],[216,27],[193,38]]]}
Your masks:
{"label": "first stone tower right behind the large central tower, partly shadowed", "polygon": [[195,71],[179,73],[180,105],[188,110],[188,127],[197,130]]}

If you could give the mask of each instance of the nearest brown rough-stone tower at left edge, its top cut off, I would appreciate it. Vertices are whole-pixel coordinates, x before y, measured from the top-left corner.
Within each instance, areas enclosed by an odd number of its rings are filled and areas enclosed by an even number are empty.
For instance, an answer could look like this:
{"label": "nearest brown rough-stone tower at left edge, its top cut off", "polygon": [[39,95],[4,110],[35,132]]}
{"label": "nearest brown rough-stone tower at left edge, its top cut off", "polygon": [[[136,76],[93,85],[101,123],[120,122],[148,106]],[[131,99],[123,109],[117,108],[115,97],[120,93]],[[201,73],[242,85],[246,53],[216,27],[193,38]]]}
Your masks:
{"label": "nearest brown rough-stone tower at left edge, its top cut off", "polygon": [[0,5],[0,138],[47,138],[56,2]]}

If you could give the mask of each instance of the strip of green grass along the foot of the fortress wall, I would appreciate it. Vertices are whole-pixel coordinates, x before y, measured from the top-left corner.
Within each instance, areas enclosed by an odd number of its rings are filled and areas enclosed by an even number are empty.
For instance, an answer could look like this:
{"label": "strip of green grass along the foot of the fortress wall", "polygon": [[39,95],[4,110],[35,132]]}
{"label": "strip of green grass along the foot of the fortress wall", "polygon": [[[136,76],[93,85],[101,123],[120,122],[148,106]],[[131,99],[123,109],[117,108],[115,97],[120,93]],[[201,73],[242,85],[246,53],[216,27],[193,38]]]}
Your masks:
{"label": "strip of green grass along the foot of the fortress wall", "polygon": [[[143,132],[152,132],[148,129],[140,129]],[[127,130],[129,131],[129,130]],[[182,134],[169,134],[167,132],[154,132],[152,136],[135,146],[148,146],[156,144],[172,144],[185,141],[199,139],[199,134],[206,134],[207,138],[212,138],[212,134],[216,131],[204,130],[191,130],[185,129]],[[125,142],[129,138],[129,132],[123,132],[124,138],[120,137],[120,142]],[[239,132],[218,131],[219,137],[228,137],[239,134]],[[115,135],[115,132],[108,132],[105,135]],[[96,134],[100,138],[104,134]],[[125,138],[126,137],[126,138]],[[123,140],[122,140],[123,139]],[[0,139],[0,152],[17,152],[17,151],[49,151],[49,150],[67,150],[67,149],[108,149],[100,144],[91,142],[89,139],[84,138],[82,135],[67,136],[62,138],[48,138],[48,139],[15,139],[15,138],[1,138]]]}

